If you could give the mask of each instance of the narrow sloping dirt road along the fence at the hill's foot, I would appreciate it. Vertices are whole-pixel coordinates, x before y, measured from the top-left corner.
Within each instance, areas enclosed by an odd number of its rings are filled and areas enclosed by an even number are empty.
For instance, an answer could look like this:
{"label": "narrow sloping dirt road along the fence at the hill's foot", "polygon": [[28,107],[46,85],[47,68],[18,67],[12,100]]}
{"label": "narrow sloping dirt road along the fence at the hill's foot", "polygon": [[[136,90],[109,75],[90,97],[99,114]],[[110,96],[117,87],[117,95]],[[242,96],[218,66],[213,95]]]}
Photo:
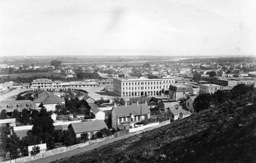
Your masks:
{"label": "narrow sloping dirt road along the fence at the hill's foot", "polygon": [[68,158],[68,157],[71,157],[71,156],[74,156],[74,155],[77,155],[77,154],[80,154],[80,153],[88,152],[88,151],[93,150],[95,148],[98,148],[102,145],[113,143],[113,142],[119,141],[121,139],[128,138],[128,137],[140,134],[144,131],[150,131],[150,130],[153,130],[155,128],[159,128],[161,126],[167,125],[167,124],[170,124],[170,123],[166,123],[166,124],[162,124],[162,125],[158,125],[158,126],[153,126],[153,127],[146,128],[146,129],[144,129],[142,131],[139,131],[139,132],[127,134],[127,135],[120,136],[120,137],[117,137],[117,138],[112,138],[112,139],[109,139],[107,141],[95,143],[95,144],[92,144],[92,145],[89,145],[89,146],[86,146],[86,147],[77,148],[77,149],[67,151],[67,152],[58,153],[58,154],[51,155],[51,156],[48,156],[48,157],[42,157],[42,158],[35,159],[35,160],[32,160],[32,161],[28,161],[28,162],[30,162],[30,163],[31,162],[46,163],[46,162],[52,162],[52,161],[55,161],[55,160],[59,160],[59,159],[62,159],[62,158]]}

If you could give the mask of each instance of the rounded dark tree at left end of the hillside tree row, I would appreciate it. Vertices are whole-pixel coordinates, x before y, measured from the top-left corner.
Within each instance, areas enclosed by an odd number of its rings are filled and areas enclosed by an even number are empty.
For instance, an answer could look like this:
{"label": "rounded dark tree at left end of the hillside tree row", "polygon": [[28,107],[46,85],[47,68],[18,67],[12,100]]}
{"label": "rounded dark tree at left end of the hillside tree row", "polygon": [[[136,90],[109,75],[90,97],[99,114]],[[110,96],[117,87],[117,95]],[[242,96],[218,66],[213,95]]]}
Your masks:
{"label": "rounded dark tree at left end of the hillside tree row", "polygon": [[193,107],[196,112],[205,110],[211,105],[211,96],[210,94],[199,94],[193,102]]}

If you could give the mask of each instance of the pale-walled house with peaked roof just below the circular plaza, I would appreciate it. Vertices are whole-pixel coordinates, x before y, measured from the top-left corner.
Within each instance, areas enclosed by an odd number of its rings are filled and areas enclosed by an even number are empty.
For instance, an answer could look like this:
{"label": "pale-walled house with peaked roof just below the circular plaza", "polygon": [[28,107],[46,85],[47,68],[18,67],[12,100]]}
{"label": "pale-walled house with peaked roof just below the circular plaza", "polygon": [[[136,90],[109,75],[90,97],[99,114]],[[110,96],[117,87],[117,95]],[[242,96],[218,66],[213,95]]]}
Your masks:
{"label": "pale-walled house with peaked roof just below the circular plaza", "polygon": [[45,90],[42,91],[41,94],[38,95],[38,98],[35,99],[34,101],[34,107],[36,109],[40,109],[41,107],[45,107],[47,111],[54,111],[55,106],[57,104],[64,104],[65,105],[65,100],[58,97],[57,95],[52,95],[49,91]]}

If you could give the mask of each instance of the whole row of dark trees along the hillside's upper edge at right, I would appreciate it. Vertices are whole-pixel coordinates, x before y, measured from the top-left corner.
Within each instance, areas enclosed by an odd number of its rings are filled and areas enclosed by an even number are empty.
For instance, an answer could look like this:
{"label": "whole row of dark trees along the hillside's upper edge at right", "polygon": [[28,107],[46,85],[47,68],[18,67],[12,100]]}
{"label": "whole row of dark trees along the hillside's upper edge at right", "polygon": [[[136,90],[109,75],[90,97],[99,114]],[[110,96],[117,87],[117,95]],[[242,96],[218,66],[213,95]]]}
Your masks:
{"label": "whole row of dark trees along the hillside's upper edge at right", "polygon": [[238,84],[234,86],[231,91],[217,90],[214,94],[200,94],[193,102],[193,107],[196,112],[205,110],[209,107],[220,105],[224,102],[236,99],[246,94],[253,94],[254,85],[247,86],[245,84]]}

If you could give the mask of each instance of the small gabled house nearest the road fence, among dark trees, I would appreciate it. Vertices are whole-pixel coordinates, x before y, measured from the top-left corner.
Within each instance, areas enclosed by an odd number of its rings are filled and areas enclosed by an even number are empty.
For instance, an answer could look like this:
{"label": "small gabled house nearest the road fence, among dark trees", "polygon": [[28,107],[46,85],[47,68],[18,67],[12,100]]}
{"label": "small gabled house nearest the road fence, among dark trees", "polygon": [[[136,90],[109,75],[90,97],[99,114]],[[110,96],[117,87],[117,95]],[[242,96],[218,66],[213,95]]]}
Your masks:
{"label": "small gabled house nearest the road fence, among dark trees", "polygon": [[71,138],[81,138],[84,134],[88,134],[88,138],[92,138],[96,132],[101,129],[108,127],[106,126],[103,120],[95,120],[95,121],[84,121],[79,123],[71,123],[68,126],[69,137]]}

